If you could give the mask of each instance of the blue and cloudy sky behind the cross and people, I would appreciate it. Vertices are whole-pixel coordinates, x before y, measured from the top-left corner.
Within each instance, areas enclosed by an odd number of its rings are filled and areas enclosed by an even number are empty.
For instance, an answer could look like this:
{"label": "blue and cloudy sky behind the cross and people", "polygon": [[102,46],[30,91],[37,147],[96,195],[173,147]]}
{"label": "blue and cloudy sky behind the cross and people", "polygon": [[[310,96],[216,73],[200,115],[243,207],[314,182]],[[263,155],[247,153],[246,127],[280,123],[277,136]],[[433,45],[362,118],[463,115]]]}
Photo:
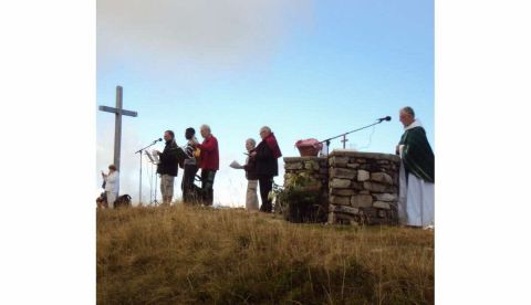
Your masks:
{"label": "blue and cloudy sky behind the cross and people", "polygon": [[[246,139],[258,140],[264,125],[290,157],[299,156],[299,139],[321,140],[389,115],[350,135],[346,148],[394,154],[398,111],[412,106],[435,150],[433,1],[98,0],[96,39],[95,188],[114,141],[114,116],[97,105],[114,106],[121,85],[124,108],[138,112],[123,118],[122,134],[121,193],[134,202],[134,151],[166,129],[183,145],[187,127],[210,125],[220,150],[215,204],[230,207],[244,206],[247,180],[229,164],[244,161]],[[282,159],[279,168],[282,185]],[[144,159],[144,202],[154,192],[148,170]]]}

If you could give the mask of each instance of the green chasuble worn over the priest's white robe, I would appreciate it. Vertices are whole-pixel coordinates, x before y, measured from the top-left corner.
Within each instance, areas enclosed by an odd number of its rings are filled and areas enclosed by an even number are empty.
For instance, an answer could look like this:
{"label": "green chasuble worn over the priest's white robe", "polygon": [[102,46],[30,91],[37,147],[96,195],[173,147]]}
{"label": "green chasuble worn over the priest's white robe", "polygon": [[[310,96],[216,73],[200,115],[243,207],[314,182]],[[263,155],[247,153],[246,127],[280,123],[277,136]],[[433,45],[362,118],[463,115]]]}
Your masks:
{"label": "green chasuble worn over the priest's white robe", "polygon": [[416,126],[407,129],[402,136],[399,145],[404,145],[402,161],[406,172],[412,172],[417,178],[434,183],[435,156],[424,128]]}

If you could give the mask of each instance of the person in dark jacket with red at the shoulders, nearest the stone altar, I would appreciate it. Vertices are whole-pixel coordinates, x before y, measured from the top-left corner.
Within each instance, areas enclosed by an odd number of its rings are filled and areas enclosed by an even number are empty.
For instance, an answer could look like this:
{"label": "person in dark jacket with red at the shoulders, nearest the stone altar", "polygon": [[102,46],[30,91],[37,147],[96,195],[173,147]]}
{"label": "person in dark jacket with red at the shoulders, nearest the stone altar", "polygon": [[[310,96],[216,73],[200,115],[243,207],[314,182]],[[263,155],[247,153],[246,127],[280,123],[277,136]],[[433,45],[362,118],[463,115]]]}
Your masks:
{"label": "person in dark jacket with red at the shoulders, nearest the stone altar", "polygon": [[260,211],[270,213],[273,204],[269,199],[269,192],[273,189],[273,177],[279,176],[277,159],[282,157],[282,152],[271,128],[268,126],[260,128],[260,137],[262,141],[250,156],[257,160],[257,176],[260,185],[260,197],[262,198]]}

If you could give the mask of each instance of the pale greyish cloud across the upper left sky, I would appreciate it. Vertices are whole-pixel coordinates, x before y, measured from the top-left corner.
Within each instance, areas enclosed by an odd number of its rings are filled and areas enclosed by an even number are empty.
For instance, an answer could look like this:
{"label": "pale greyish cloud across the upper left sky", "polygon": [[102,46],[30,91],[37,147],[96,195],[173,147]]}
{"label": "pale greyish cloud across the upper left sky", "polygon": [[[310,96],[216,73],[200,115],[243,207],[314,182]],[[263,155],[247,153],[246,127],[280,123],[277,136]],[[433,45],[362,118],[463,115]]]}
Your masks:
{"label": "pale greyish cloud across the upper left sky", "polygon": [[98,0],[98,69],[111,62],[186,72],[268,61],[290,22],[308,22],[305,0]]}

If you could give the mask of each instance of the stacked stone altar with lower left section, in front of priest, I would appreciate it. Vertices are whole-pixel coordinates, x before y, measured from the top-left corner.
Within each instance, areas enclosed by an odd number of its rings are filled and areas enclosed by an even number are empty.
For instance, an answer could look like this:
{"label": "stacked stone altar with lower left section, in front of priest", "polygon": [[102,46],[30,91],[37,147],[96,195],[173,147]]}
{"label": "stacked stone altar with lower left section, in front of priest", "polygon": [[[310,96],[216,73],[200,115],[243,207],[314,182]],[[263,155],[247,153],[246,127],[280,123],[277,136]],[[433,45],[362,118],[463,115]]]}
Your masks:
{"label": "stacked stone altar with lower left section, in front of priest", "polygon": [[320,181],[330,223],[395,224],[398,170],[395,155],[334,150],[329,157],[284,158],[284,186],[293,175]]}

